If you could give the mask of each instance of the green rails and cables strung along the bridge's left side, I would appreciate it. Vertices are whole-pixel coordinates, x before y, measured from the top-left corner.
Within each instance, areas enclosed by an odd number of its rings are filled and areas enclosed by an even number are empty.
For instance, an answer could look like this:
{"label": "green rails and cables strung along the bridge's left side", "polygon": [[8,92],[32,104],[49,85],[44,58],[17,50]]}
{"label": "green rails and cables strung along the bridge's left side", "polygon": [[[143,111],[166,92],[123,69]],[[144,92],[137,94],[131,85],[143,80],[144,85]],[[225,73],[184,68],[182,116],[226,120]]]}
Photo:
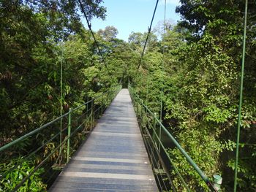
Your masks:
{"label": "green rails and cables strung along the bridge's left side", "polygon": [[[4,145],[3,147],[0,147],[0,159],[4,159],[4,155],[7,155],[7,153],[10,153],[10,150],[12,150],[12,147],[15,147],[16,145],[18,145],[20,142],[25,141],[27,138],[32,137],[34,134],[39,133],[39,131],[45,130],[45,128],[48,128],[49,126],[53,126],[54,123],[58,122],[61,119],[67,118],[67,116],[69,117],[69,120],[67,123],[67,126],[65,126],[61,131],[59,131],[58,133],[56,133],[55,135],[52,135],[50,137],[50,139],[48,139],[47,142],[45,142],[43,145],[39,146],[36,150],[34,150],[33,152],[29,153],[29,155],[26,155],[25,158],[23,158],[20,162],[18,162],[18,164],[16,164],[15,166],[13,166],[11,169],[9,169],[7,172],[1,173],[0,174],[0,180],[4,180],[5,177],[7,177],[7,174],[10,174],[11,172],[14,172],[15,169],[18,168],[18,166],[21,166],[23,164],[24,161],[28,160],[29,158],[31,158],[32,155],[35,155],[36,153],[39,152],[39,150],[42,150],[43,147],[45,147],[46,145],[48,145],[50,142],[53,142],[53,139],[58,139],[58,136],[60,134],[62,134],[64,131],[68,131],[67,137],[57,146],[55,147],[54,150],[51,151],[51,153],[49,153],[49,155],[47,155],[47,157],[45,157],[26,177],[23,178],[23,180],[20,181],[20,183],[18,185],[15,186],[14,189],[12,189],[12,191],[17,191],[18,188],[20,188],[20,186],[23,185],[23,183],[26,182],[26,180],[29,179],[29,177],[31,177],[31,175],[33,175],[35,172],[37,172],[37,170],[42,167],[43,164],[45,164],[48,159],[57,152],[57,150],[60,150],[59,154],[61,153],[61,148],[63,148],[63,146],[65,145],[65,143],[68,143],[67,145],[69,146],[69,139],[75,134],[77,133],[81,128],[83,128],[83,126],[85,125],[89,125],[89,128],[91,129],[93,127],[93,123],[94,123],[94,119],[97,119],[100,115],[102,115],[102,113],[105,111],[105,109],[108,107],[108,105],[110,104],[110,102],[116,97],[117,93],[121,90],[121,85],[117,85],[114,88],[111,88],[109,91],[100,94],[99,96],[95,97],[94,99],[91,99],[90,101],[87,101],[86,103],[80,105],[79,107],[76,107],[75,109],[69,109],[69,112],[65,113],[64,115],[61,115],[59,118],[56,118],[52,121],[50,121],[49,123],[46,123],[43,126],[40,126],[39,128],[36,128],[34,131],[29,132],[28,134],[25,134],[24,136],[16,139],[13,142],[10,142],[7,145]],[[91,104],[91,108],[89,108],[89,104]],[[71,115],[74,114],[75,112],[78,112],[78,110],[81,110],[81,107],[86,107],[86,112],[83,112],[82,115],[78,116],[78,118],[75,118],[75,120],[71,120]],[[94,109],[96,108],[96,109]],[[79,111],[80,112],[80,111]],[[86,116],[86,118],[85,118]],[[78,122],[81,118],[83,118],[83,120],[81,120],[81,122]],[[72,124],[77,123],[78,126],[75,128],[72,128],[72,132],[70,132],[71,126]],[[88,131],[88,127],[85,127],[86,130],[83,131]],[[56,128],[57,130],[57,128]],[[82,132],[82,131],[81,131]],[[67,162],[69,161],[69,147],[67,147]],[[57,161],[59,161],[59,157]]]}

